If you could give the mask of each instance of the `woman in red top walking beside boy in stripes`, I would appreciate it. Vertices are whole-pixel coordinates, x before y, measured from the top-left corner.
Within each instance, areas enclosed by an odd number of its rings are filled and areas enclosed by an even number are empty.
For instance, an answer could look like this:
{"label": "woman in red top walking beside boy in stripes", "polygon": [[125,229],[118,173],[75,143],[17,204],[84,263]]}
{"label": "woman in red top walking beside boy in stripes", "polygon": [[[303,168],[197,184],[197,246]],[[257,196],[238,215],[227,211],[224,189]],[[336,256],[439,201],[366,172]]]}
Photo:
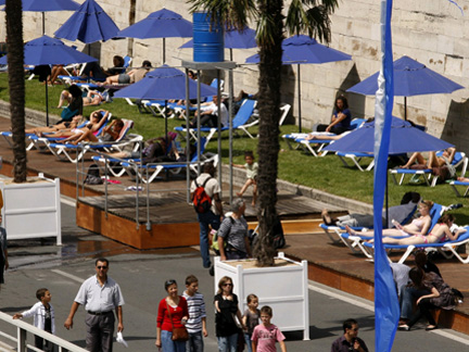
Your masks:
{"label": "woman in red top walking beside boy in stripes", "polygon": [[[187,301],[178,296],[176,280],[167,280],[165,290],[168,296],[160,301],[159,315],[156,317],[156,347],[163,347],[164,352],[186,352],[186,342],[173,341],[173,327],[181,328],[189,318]],[[170,310],[169,318],[168,310]]]}

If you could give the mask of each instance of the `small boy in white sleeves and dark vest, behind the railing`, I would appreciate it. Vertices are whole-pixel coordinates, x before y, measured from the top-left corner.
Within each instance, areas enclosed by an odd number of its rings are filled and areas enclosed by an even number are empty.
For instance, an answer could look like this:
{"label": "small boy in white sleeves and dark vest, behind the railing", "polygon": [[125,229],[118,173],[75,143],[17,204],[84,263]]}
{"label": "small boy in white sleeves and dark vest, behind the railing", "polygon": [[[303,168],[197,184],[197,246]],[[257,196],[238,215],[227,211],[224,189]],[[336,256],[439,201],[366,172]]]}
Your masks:
{"label": "small boy in white sleeves and dark vest, behind the railing", "polygon": [[[28,311],[13,315],[13,319],[21,319],[34,315],[34,326],[55,335],[54,310],[52,304],[50,304],[52,296],[47,288],[41,288],[36,291],[36,298],[40,302],[37,302]],[[35,336],[35,345],[42,351],[51,352],[54,350],[54,344],[49,341],[45,343],[43,339],[39,336]]]}

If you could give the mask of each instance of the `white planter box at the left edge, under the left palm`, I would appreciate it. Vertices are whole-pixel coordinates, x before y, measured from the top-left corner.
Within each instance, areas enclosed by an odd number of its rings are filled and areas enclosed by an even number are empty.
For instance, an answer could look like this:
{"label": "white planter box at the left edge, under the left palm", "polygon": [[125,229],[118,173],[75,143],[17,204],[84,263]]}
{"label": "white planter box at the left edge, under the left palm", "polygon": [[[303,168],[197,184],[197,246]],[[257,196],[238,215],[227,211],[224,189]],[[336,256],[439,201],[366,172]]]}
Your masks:
{"label": "white planter box at the left edge, under the left palm", "polygon": [[24,184],[0,181],[0,190],[9,240],[56,237],[56,244],[62,244],[59,178],[29,177]]}

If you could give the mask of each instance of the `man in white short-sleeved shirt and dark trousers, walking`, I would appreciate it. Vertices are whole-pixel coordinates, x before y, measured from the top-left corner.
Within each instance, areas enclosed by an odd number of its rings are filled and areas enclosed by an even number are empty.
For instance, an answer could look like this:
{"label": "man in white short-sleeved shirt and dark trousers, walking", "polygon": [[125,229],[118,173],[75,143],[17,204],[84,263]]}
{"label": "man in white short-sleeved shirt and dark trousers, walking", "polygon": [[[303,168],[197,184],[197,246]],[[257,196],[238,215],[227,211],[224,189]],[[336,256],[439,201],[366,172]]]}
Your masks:
{"label": "man in white short-sleeved shirt and dark trousers, walking", "polygon": [[71,312],[65,320],[65,328],[73,327],[73,318],[80,304],[85,305],[87,315],[86,349],[92,352],[112,351],[114,335],[114,310],[117,315],[117,331],[124,330],[123,310],[124,297],[121,287],[107,276],[109,261],[100,257],[94,263],[96,275],[83,282]]}

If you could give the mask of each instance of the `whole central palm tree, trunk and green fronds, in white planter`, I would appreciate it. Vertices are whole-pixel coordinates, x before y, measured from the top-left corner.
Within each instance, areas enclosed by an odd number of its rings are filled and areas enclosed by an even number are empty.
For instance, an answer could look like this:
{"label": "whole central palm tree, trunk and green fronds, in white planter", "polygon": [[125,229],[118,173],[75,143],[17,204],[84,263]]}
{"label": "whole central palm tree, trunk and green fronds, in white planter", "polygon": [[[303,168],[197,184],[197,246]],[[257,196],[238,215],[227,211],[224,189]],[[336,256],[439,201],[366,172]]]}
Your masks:
{"label": "whole central palm tree, trunk and green fronds, in white planter", "polygon": [[272,229],[277,222],[277,166],[280,120],[281,56],[283,34],[307,33],[330,41],[330,18],[338,0],[292,0],[283,15],[283,0],[188,0],[191,12],[206,12],[213,22],[242,29],[248,22],[257,24],[259,48],[258,101],[258,222],[259,240],[254,249],[257,265],[274,264]]}

